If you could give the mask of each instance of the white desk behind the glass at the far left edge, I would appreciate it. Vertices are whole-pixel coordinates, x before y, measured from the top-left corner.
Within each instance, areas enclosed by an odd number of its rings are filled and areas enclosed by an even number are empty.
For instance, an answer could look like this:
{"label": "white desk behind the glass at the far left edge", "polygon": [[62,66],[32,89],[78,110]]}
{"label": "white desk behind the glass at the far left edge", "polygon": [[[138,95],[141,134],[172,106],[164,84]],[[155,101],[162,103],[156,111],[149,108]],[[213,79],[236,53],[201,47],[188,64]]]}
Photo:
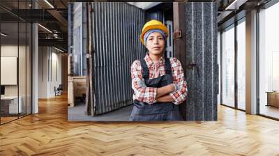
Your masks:
{"label": "white desk behind the glass at the far left edge", "polygon": [[[22,113],[22,97],[20,96],[18,99],[20,101],[17,107],[17,96],[1,97],[1,111],[4,111],[4,114]],[[19,111],[17,112],[17,110]]]}

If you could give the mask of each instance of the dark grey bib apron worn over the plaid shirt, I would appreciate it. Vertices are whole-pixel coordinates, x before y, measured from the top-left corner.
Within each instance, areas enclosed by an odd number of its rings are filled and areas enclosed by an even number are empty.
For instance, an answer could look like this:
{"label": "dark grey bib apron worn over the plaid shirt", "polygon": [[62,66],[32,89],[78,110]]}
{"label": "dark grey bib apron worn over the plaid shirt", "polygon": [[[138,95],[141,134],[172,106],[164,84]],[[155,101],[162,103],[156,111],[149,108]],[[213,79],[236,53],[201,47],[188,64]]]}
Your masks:
{"label": "dark grey bib apron worn over the plaid shirt", "polygon": [[[169,59],[165,58],[166,74],[154,79],[149,79],[149,68],[147,67],[144,59],[140,60],[140,63],[142,65],[142,77],[144,78],[146,86],[160,88],[173,83],[172,68],[169,63]],[[156,102],[153,104],[147,104],[146,102],[134,100],[134,107],[129,120],[183,120],[183,118],[179,111],[179,105],[172,104],[172,102]]]}

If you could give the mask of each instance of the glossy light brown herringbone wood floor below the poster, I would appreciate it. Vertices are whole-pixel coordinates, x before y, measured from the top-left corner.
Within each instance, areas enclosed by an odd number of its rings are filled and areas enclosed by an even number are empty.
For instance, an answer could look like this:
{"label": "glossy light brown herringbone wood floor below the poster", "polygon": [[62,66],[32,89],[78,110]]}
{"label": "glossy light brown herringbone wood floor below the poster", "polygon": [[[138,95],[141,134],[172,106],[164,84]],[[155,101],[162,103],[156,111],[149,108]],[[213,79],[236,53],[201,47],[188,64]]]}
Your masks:
{"label": "glossy light brown herringbone wood floor below the poster", "polygon": [[0,155],[279,155],[279,122],[218,107],[218,122],[68,123],[65,95],[0,126]]}

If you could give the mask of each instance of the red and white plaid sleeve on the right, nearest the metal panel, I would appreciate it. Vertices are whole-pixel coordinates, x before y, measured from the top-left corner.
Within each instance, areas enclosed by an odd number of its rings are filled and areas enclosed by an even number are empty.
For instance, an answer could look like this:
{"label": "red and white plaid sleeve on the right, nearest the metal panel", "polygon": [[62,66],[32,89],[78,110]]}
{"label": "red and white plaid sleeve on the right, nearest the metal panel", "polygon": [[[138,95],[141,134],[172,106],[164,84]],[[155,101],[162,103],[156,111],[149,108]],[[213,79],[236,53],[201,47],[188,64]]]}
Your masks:
{"label": "red and white plaid sleeve on the right, nearest the metal panel", "polygon": [[169,93],[169,95],[171,95],[172,98],[174,99],[174,102],[172,103],[181,104],[187,98],[187,93],[188,93],[187,82],[184,77],[184,72],[180,61],[176,58],[172,58],[171,62],[172,62],[172,69],[173,69],[172,71],[173,81],[174,84],[178,84],[179,89],[173,93]]}

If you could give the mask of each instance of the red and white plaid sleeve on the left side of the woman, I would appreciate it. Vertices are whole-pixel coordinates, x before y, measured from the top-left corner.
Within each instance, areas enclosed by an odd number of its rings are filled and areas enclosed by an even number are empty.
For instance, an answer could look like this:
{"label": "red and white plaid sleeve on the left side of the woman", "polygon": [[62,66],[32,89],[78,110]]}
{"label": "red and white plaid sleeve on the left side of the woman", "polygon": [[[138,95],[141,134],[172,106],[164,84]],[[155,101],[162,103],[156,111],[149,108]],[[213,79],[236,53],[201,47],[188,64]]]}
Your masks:
{"label": "red and white plaid sleeve on the left side of the woman", "polygon": [[142,78],[142,67],[140,61],[136,60],[131,65],[132,88],[134,90],[133,100],[153,104],[156,102],[157,88],[146,87]]}

